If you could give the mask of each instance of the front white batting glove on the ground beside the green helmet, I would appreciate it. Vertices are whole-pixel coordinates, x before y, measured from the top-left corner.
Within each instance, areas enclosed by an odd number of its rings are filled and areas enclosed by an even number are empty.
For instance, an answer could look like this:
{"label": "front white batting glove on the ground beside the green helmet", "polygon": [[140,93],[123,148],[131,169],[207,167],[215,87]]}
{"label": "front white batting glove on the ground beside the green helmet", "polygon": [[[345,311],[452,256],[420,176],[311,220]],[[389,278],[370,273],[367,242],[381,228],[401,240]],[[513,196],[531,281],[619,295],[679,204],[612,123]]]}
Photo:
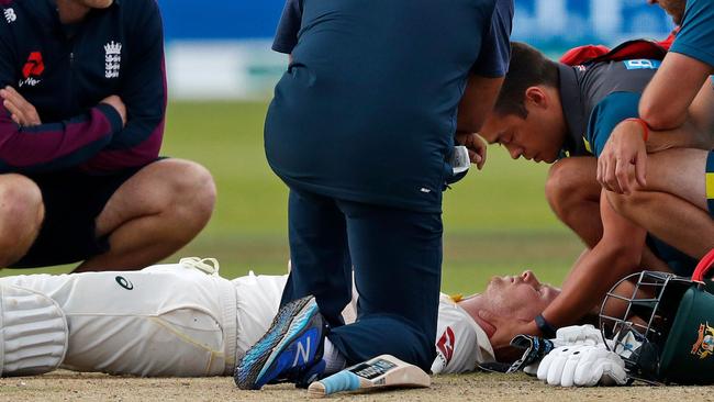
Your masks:
{"label": "front white batting glove on the ground beside the green helmet", "polygon": [[561,346],[540,361],[538,379],[550,386],[622,386],[627,382],[625,362],[600,345]]}

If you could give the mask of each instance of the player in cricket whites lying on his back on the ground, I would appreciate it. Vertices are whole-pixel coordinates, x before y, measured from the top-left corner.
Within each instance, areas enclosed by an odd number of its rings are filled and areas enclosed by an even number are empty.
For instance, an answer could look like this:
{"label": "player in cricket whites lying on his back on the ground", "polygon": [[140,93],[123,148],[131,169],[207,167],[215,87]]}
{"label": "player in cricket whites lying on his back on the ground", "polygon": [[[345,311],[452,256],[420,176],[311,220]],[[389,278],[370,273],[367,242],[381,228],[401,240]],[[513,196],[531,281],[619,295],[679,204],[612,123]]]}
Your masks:
{"label": "player in cricket whites lying on his back on the ground", "polygon": [[[136,376],[230,376],[272,321],[285,276],[234,280],[214,259],[183,258],[137,272],[29,275],[0,279],[2,376],[58,367]],[[498,330],[479,313],[528,321],[559,290],[524,271],[494,277],[480,294],[439,298],[434,373],[494,360]],[[345,322],[358,317],[357,298]]]}

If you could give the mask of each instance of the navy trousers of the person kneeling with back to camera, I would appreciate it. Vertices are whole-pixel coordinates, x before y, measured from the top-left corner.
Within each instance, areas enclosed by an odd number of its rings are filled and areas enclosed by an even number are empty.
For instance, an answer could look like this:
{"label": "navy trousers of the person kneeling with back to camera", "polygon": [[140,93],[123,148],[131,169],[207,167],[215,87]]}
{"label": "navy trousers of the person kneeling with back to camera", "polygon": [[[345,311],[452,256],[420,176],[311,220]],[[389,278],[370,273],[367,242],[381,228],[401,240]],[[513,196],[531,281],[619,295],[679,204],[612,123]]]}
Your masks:
{"label": "navy trousers of the person kneeling with back to camera", "polygon": [[[313,294],[328,338],[356,364],[393,355],[428,372],[434,361],[442,268],[442,215],[290,190],[292,270],[282,303]],[[359,292],[357,322],[343,325]]]}

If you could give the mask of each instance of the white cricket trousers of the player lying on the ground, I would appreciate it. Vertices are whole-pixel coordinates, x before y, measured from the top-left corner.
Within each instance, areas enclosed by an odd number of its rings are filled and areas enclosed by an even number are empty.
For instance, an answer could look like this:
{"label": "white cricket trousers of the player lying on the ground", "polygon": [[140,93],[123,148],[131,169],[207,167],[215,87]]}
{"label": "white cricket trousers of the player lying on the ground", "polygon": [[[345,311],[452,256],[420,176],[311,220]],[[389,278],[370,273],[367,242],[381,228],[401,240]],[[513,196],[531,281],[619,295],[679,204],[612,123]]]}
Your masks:
{"label": "white cricket trousers of the player lying on the ground", "polygon": [[0,279],[55,300],[69,327],[63,368],[136,376],[233,373],[236,289],[180,264],[141,271]]}

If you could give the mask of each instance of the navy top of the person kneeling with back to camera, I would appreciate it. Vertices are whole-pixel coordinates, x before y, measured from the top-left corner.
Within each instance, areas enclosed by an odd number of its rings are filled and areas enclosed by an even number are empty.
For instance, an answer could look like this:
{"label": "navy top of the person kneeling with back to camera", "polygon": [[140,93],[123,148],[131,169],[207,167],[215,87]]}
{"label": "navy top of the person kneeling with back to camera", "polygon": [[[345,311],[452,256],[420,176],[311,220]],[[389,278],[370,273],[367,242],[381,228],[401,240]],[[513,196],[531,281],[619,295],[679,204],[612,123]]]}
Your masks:
{"label": "navy top of the person kneeling with back to camera", "polygon": [[512,0],[289,0],[270,166],[301,190],[440,212],[467,77],[505,75],[512,15]]}

